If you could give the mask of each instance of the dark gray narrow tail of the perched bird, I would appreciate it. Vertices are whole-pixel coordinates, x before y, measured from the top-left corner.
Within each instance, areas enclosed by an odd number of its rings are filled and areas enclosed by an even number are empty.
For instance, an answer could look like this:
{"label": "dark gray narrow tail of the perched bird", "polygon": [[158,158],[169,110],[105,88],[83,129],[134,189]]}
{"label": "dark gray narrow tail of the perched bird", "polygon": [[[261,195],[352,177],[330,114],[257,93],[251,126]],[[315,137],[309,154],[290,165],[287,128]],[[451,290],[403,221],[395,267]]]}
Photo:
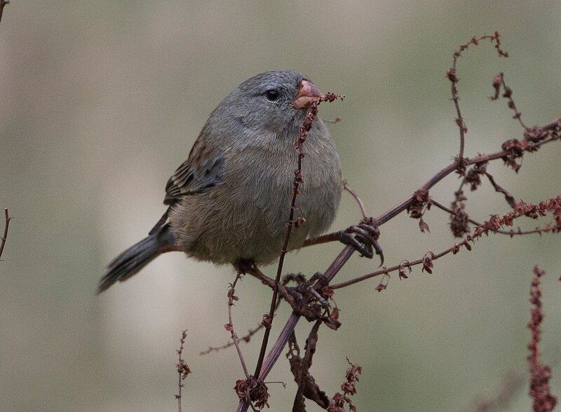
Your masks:
{"label": "dark gray narrow tail of the perched bird", "polygon": [[175,238],[169,224],[165,224],[156,233],[129,247],[109,263],[97,286],[97,294],[109,289],[115,282],[123,282],[135,275],[160,254],[176,250],[174,243]]}

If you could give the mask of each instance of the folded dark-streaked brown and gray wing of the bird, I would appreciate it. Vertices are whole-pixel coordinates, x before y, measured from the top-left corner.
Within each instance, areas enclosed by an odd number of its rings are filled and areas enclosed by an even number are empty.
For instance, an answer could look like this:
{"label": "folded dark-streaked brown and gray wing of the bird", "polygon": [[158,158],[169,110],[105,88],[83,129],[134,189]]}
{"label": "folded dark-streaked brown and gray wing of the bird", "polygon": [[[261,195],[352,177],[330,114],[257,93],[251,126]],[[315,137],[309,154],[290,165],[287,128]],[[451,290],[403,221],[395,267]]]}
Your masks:
{"label": "folded dark-streaked brown and gray wing of the bird", "polygon": [[[205,148],[196,150],[198,143],[200,142],[195,142],[191,153],[189,153],[189,158],[180,167],[177,167],[177,170],[168,180],[168,184],[165,185],[164,205],[171,207],[184,196],[203,193],[222,182],[224,151],[205,150]],[[169,211],[168,208],[149,234],[156,233],[165,224]]]}

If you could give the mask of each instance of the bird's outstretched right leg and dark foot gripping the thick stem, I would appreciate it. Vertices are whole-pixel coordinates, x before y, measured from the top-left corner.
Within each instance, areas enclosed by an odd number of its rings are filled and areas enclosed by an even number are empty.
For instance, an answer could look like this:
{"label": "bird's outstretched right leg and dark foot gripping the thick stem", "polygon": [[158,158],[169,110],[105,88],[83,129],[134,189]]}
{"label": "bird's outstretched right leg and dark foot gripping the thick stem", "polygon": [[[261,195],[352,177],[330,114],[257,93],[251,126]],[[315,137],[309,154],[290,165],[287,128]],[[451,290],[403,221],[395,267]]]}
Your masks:
{"label": "bird's outstretched right leg and dark foot gripping the thick stem", "polygon": [[374,257],[375,251],[380,256],[381,266],[384,264],[384,252],[382,252],[381,246],[378,243],[379,236],[380,231],[376,221],[369,217],[360,221],[360,224],[350,226],[344,231],[327,233],[327,235],[321,235],[317,238],[306,239],[302,247],[334,241],[342,242],[345,245],[354,247],[357,252],[368,259]]}

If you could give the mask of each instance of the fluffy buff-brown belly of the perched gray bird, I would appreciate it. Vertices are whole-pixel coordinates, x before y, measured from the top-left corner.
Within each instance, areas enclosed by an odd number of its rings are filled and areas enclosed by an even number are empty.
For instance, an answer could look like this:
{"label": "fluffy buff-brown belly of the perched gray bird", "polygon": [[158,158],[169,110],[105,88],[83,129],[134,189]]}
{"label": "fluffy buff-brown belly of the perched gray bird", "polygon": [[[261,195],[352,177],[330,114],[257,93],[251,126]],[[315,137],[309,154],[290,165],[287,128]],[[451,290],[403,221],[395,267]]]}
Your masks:
{"label": "fluffy buff-brown belly of the perched gray bird", "polygon": [[[257,181],[219,185],[187,196],[170,213],[177,245],[184,252],[219,264],[241,260],[268,264],[278,258],[290,218],[292,179],[281,181],[273,173],[247,179]],[[296,199],[293,219],[303,217],[305,222],[292,227],[289,250],[302,247],[310,234],[325,231],[339,204],[337,179],[331,185],[311,183],[304,181]]]}

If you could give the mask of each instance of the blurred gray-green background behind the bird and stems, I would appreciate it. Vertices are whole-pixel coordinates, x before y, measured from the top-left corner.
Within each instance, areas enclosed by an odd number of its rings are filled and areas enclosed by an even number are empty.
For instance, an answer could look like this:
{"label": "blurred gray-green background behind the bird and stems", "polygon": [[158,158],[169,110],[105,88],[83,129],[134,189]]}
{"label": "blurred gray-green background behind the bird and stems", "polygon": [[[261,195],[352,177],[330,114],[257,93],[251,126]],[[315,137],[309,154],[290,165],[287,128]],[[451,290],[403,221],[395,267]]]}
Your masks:
{"label": "blurred gray-green background behind the bird and stems", "polygon": [[[229,341],[231,268],[182,254],[157,259],[132,280],[95,296],[104,266],[140,240],[164,207],[163,188],[187,157],[210,111],[246,78],[296,69],[320,90],[344,93],[322,105],[344,175],[372,215],[401,202],[458,150],[445,71],[459,43],[498,30],[508,59],[489,44],[459,61],[466,154],[490,153],[521,137],[506,102],[491,102],[504,71],[530,125],[561,115],[559,1],[18,1],[0,24],[0,207],[11,222],[0,262],[2,411],[174,411],[176,353],[193,374],[184,410],[233,411],[243,376],[235,351],[198,352]],[[517,175],[489,165],[499,184],[527,202],[561,193],[561,147],[524,158]],[[449,177],[433,195],[448,204]],[[508,205],[487,182],[468,193],[474,219]],[[358,221],[345,196],[335,228]],[[381,229],[386,262],[417,259],[452,245],[448,218],[399,216]],[[526,222],[533,227],[535,222]],[[340,245],[288,256],[285,270],[325,270]],[[492,235],[473,252],[338,291],[339,331],[320,329],[311,369],[332,395],[347,368],[363,366],[360,411],[459,411],[526,368],[532,266],[543,280],[543,359],[561,394],[560,239]],[[338,279],[377,268],[353,256]],[[266,268],[272,275],[274,268]],[[242,334],[268,309],[253,279],[238,287]],[[289,311],[279,311],[280,324]],[[301,322],[299,343],[309,324]],[[273,334],[274,335],[274,334]],[[255,367],[259,338],[243,345]],[[271,411],[288,411],[295,385],[280,358],[269,385]],[[511,411],[528,411],[527,387]],[[318,411],[309,405],[309,411]]]}

